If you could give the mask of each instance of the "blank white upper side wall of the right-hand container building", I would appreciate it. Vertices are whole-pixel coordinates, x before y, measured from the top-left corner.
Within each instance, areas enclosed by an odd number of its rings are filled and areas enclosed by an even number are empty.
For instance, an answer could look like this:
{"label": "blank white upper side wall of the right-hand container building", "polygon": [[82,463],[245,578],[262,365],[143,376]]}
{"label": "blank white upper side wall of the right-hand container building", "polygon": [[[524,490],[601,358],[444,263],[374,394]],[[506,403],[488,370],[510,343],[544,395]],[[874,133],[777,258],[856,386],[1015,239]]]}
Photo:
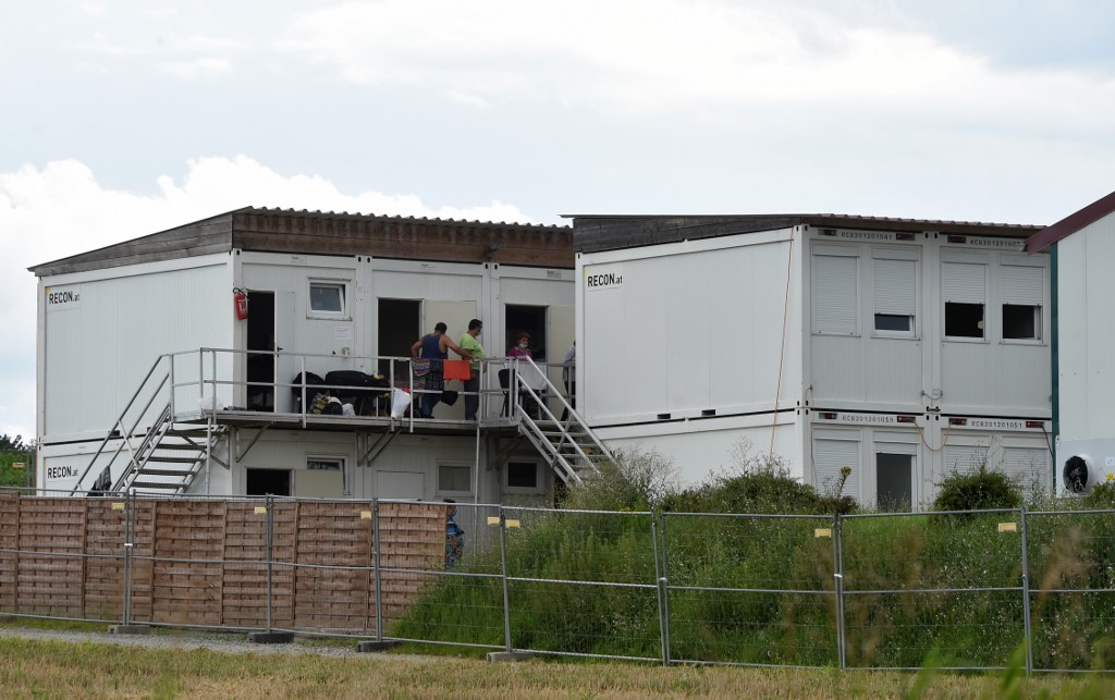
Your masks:
{"label": "blank white upper side wall of the right-hand container building", "polygon": [[[584,288],[580,408],[592,420],[622,422],[772,402],[783,320],[799,322],[783,303],[789,250],[768,242],[585,263],[584,279],[622,283]],[[786,334],[788,357],[798,352],[796,336]],[[784,375],[788,392],[801,372],[789,362]]]}

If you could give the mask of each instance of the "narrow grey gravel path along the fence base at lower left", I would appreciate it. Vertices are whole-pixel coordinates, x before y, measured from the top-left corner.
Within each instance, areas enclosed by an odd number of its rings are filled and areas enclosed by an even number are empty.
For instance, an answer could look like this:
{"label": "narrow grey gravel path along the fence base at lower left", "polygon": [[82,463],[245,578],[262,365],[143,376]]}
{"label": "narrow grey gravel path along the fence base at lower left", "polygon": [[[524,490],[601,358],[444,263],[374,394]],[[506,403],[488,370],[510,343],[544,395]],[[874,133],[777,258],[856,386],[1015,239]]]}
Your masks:
{"label": "narrow grey gravel path along the fence base at lower left", "polygon": [[110,632],[84,632],[74,630],[40,630],[0,625],[0,636],[50,640],[57,642],[93,642],[95,644],[118,644],[144,649],[209,649],[225,653],[254,654],[319,654],[338,658],[384,658],[418,659],[407,654],[367,653],[356,650],[357,640],[341,644],[323,644],[320,639],[299,638],[290,644],[258,644],[248,640],[248,633],[204,632],[194,630],[165,630],[152,628],[148,634],[113,634]]}

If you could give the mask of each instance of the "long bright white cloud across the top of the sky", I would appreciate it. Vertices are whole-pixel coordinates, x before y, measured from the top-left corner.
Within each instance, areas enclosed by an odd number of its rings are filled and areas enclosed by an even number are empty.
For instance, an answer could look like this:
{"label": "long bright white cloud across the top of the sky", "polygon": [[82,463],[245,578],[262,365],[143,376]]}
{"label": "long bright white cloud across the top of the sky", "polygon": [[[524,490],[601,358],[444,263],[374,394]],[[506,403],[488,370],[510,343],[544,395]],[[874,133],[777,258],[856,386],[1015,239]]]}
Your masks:
{"label": "long bright white cloud across the top of the sky", "polygon": [[[477,107],[573,104],[629,113],[826,105],[932,119],[1040,124],[1060,98],[1106,128],[1115,85],[1007,71],[924,33],[892,3],[716,0],[348,2],[293,20],[278,47],[345,79]],[[1035,99],[1035,96],[1053,99]]]}

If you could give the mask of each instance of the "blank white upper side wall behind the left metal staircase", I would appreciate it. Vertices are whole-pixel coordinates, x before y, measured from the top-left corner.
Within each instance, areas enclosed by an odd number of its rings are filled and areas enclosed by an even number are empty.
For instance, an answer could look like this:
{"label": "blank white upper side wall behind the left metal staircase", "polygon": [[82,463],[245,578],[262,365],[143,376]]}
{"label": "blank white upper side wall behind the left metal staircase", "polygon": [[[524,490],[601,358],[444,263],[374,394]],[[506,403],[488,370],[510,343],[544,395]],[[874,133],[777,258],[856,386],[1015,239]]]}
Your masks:
{"label": "blank white upper side wall behind the left metal staircase", "polygon": [[46,435],[107,430],[159,354],[232,347],[230,280],[222,262],[81,282],[47,313]]}

